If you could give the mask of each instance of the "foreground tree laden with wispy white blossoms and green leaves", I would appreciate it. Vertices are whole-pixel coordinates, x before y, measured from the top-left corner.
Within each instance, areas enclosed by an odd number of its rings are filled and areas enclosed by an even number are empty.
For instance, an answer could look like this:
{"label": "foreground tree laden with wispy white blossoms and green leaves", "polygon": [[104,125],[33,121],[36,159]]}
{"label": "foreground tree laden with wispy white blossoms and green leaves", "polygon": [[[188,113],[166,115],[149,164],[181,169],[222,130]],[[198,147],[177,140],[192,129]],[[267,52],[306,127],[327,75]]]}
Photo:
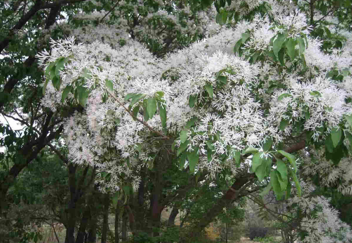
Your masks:
{"label": "foreground tree laden with wispy white blossoms and green leaves", "polygon": [[[346,1],[341,11],[350,5]],[[307,215],[300,228],[303,242],[351,241],[351,230],[340,222],[328,233],[319,230],[322,221],[329,223],[325,219],[339,219],[325,198],[302,197],[298,179],[318,177],[322,185],[352,193],[352,44],[345,23],[323,10],[307,18],[300,1],[216,1],[215,7],[216,22],[229,21],[226,26],[209,24],[206,17],[215,17],[215,10],[185,27],[176,25],[180,16],[193,15],[183,10],[140,20],[174,21],[170,30],[179,31],[178,41],[200,28],[207,36],[193,44],[176,41],[181,44],[162,58],[153,53],[161,55],[171,45],[169,34],[131,28],[128,21],[119,25],[117,38],[88,25],[83,35],[73,32],[84,43],[74,37],[51,40],[50,52],[37,55],[46,76],[42,103],[52,111],[84,107],[63,123],[70,160],[96,166],[100,189],[119,191],[116,197],[126,200],[130,188],[138,190],[143,168],[161,170],[169,163],[205,178],[231,171],[233,192],[219,205],[233,201],[254,175],[270,178],[265,190],[272,189],[278,200],[288,199],[294,188],[296,204],[316,202],[315,208],[301,209]],[[318,24],[341,46],[314,36]],[[87,29],[98,40],[84,35]],[[302,149],[306,152],[293,154]],[[217,212],[209,212],[193,233]]]}

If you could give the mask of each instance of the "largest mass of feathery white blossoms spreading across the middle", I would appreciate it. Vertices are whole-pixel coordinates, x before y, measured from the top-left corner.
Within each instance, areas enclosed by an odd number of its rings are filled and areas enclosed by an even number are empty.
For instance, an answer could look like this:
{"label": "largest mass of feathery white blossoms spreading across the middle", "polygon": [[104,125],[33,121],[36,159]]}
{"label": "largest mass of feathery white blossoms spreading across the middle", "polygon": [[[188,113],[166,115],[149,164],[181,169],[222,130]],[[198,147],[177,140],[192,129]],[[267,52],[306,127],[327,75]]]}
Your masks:
{"label": "largest mass of feathery white blossoms spreading across the middle", "polygon": [[[256,6],[258,1],[247,1],[247,4]],[[308,26],[304,25],[302,14],[283,13],[277,15],[280,28],[294,33],[292,37],[308,33],[304,32]],[[69,62],[59,72],[61,87],[70,85],[75,89],[81,85],[89,91],[83,114],[76,113],[66,122],[70,158],[76,163],[99,165],[99,171],[111,174],[110,184],[106,186],[114,190],[126,178],[138,182],[135,169],[138,163],[127,163],[126,159],[145,163],[158,149],[153,145],[149,129],[134,120],[121,105],[130,105],[130,101],[124,100],[129,93],[145,94],[147,99],[162,91],[166,127],[169,134],[176,134],[176,149],[181,145],[177,134],[186,130],[187,151],[199,147],[197,168],[207,169],[211,176],[225,167],[235,173],[235,165],[224,161],[224,157],[231,157],[236,150],[247,146],[259,149],[269,137],[275,149],[278,143],[291,137],[294,126],[301,120],[305,130],[314,131],[316,141],[324,139],[322,126],[327,126],[329,132],[344,115],[351,113],[351,106],[345,102],[351,95],[347,88],[351,87],[347,83],[351,79],[346,78],[345,84],[340,85],[326,77],[331,70],[342,72],[341,69],[349,67],[350,51],[342,49],[325,55],[319,50],[320,42],[308,37],[308,48],[304,51],[306,69],[296,65],[298,57],[287,61],[280,73],[276,70],[281,67],[270,58],[250,64],[246,53],[242,57],[233,53],[233,46],[247,30],[251,38],[244,49],[263,53],[270,50],[270,39],[277,34],[272,30],[275,27],[267,16],[257,15],[251,23],[241,21],[234,29],[224,28],[164,59],[153,57],[145,47],[135,45],[135,41],[119,46],[103,44],[100,40],[78,45],[74,38],[53,40],[51,53],[39,54],[39,63],[46,68],[58,58],[68,58]],[[117,100],[109,96],[102,102],[101,98],[107,95],[106,80],[112,82]],[[276,84],[274,88],[272,84]],[[61,93],[62,89],[48,88],[43,104],[55,109],[62,104]],[[282,94],[287,95],[281,97]],[[191,97],[196,97],[194,107],[189,105]],[[70,95],[65,102],[77,100]],[[137,113],[138,119],[143,117],[143,112]],[[193,118],[197,119],[195,125],[186,127]],[[287,120],[287,126],[281,129],[283,119]],[[162,131],[158,114],[147,124]],[[83,138],[80,140],[80,137]],[[209,142],[214,146],[210,159],[206,157]],[[103,183],[104,178],[100,181]]]}

